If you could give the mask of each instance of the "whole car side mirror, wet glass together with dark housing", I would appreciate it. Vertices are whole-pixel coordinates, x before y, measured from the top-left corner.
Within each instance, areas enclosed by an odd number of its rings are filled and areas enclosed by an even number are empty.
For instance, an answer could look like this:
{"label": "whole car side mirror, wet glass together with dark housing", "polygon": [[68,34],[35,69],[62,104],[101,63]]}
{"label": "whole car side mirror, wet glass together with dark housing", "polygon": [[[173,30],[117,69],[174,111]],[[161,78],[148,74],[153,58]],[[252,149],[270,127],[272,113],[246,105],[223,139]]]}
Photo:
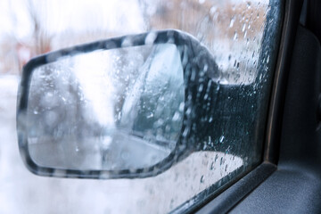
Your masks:
{"label": "whole car side mirror, wet glass together with dark housing", "polygon": [[19,89],[21,157],[40,176],[158,175],[199,150],[200,99],[217,76],[208,49],[177,30],[38,56]]}

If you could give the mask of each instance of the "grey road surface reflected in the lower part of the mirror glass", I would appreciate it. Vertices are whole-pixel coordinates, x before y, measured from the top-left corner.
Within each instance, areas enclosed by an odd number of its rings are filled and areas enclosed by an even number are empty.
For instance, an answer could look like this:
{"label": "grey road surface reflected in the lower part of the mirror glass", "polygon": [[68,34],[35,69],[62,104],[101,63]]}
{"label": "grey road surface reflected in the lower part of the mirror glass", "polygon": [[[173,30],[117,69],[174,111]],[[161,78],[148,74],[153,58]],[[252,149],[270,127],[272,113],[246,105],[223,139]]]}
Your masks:
{"label": "grey road surface reflected in the lower part of the mirror glass", "polygon": [[171,150],[164,144],[115,131],[113,136],[82,139],[30,137],[29,152],[38,165],[50,168],[120,170],[152,167],[168,157]]}

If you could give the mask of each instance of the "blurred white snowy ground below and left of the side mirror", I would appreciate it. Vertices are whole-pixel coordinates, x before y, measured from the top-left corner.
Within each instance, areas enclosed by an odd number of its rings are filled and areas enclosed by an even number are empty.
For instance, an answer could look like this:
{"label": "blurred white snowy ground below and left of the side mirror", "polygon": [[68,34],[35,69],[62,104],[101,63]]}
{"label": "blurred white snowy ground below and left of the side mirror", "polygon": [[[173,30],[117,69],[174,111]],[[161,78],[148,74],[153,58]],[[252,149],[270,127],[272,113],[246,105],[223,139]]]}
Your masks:
{"label": "blurred white snowy ground below and left of the side mirror", "polygon": [[[158,177],[87,180],[34,176],[23,166],[18,150],[18,82],[15,76],[0,76],[0,213],[168,212],[243,164],[232,155],[196,152]],[[215,156],[222,158],[223,165]]]}

